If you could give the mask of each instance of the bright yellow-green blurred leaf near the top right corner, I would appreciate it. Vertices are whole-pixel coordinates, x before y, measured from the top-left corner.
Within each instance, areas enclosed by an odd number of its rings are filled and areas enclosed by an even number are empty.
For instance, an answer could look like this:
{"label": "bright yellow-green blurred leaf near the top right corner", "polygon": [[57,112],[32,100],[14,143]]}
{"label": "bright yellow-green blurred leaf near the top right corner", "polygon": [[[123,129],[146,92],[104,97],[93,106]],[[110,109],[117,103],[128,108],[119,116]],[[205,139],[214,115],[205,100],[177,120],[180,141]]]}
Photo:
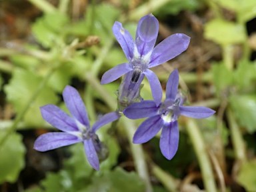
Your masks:
{"label": "bright yellow-green blurred leaf near the top right corner", "polygon": [[219,43],[220,45],[243,43],[247,40],[245,34],[242,25],[231,21],[213,19],[205,24],[205,38],[215,41],[215,43]]}

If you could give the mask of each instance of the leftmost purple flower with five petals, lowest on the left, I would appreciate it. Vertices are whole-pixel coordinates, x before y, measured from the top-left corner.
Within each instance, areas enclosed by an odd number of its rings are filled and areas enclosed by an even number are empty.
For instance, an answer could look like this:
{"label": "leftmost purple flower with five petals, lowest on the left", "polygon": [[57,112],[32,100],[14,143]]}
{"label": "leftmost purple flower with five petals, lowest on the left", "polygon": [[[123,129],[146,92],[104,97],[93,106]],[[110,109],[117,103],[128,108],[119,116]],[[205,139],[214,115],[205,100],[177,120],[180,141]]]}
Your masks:
{"label": "leftmost purple flower with five petals, lowest on the left", "polygon": [[99,170],[97,153],[101,152],[101,143],[95,132],[112,121],[119,119],[117,112],[103,115],[90,128],[87,111],[78,91],[67,85],[63,91],[63,99],[72,117],[59,109],[56,105],[41,107],[43,119],[63,132],[45,133],[37,138],[34,149],[37,151],[49,151],[59,147],[83,142],[85,154],[91,166]]}

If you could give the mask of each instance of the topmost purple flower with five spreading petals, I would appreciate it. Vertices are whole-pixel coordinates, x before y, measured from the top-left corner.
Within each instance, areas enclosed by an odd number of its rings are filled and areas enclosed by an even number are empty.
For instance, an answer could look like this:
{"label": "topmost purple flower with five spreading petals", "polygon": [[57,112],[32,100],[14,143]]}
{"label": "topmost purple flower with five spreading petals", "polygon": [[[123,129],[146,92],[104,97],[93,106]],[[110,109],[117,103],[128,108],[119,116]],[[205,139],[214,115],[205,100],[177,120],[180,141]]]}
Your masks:
{"label": "topmost purple flower with five spreading petals", "polygon": [[165,63],[185,51],[190,37],[176,33],[164,39],[154,48],[158,30],[157,19],[152,14],[146,15],[139,20],[134,42],[131,34],[123,28],[121,23],[116,21],[113,25],[113,33],[129,63],[122,63],[105,72],[101,84],[115,81],[126,73],[130,73],[128,76],[131,83],[137,83],[137,81],[142,81],[145,75],[149,80],[153,99],[159,105],[162,99],[161,84],[157,75],[149,68]]}

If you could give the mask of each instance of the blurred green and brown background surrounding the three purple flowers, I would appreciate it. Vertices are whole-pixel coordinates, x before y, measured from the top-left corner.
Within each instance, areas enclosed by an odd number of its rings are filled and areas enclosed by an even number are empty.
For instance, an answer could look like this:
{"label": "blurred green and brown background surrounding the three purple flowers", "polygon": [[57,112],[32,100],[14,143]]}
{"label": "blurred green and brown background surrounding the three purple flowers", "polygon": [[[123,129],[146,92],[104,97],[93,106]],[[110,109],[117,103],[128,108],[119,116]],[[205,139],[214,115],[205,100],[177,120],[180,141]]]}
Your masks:
{"label": "blurred green and brown background surrounding the three purple flowers", "polygon": [[[81,93],[91,125],[117,108],[121,79],[99,83],[105,71],[127,62],[113,23],[135,37],[137,22],[149,13],[159,20],[157,43],[173,33],[191,37],[187,51],[152,69],[163,91],[177,68],[186,105],[210,107],[215,115],[179,119],[171,161],[161,154],[159,135],[132,144],[143,119],[125,117],[99,131],[109,151],[99,172],[82,143],[35,151],[39,135],[57,131],[39,107],[67,111],[66,85]],[[255,32],[255,0],[0,0],[0,191],[255,192]],[[146,79],[143,84],[141,96],[152,99]]]}

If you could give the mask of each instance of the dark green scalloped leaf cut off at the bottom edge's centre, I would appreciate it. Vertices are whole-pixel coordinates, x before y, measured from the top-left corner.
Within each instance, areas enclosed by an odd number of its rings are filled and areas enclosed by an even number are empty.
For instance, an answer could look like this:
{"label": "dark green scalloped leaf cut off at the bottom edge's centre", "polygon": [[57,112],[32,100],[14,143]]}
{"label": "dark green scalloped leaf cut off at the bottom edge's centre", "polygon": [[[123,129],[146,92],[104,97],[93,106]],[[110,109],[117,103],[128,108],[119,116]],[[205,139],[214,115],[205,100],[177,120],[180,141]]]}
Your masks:
{"label": "dark green scalloped leaf cut off at the bottom edge's centre", "polygon": [[120,167],[93,177],[93,184],[85,191],[141,192],[145,191],[143,180],[135,172],[127,172]]}

